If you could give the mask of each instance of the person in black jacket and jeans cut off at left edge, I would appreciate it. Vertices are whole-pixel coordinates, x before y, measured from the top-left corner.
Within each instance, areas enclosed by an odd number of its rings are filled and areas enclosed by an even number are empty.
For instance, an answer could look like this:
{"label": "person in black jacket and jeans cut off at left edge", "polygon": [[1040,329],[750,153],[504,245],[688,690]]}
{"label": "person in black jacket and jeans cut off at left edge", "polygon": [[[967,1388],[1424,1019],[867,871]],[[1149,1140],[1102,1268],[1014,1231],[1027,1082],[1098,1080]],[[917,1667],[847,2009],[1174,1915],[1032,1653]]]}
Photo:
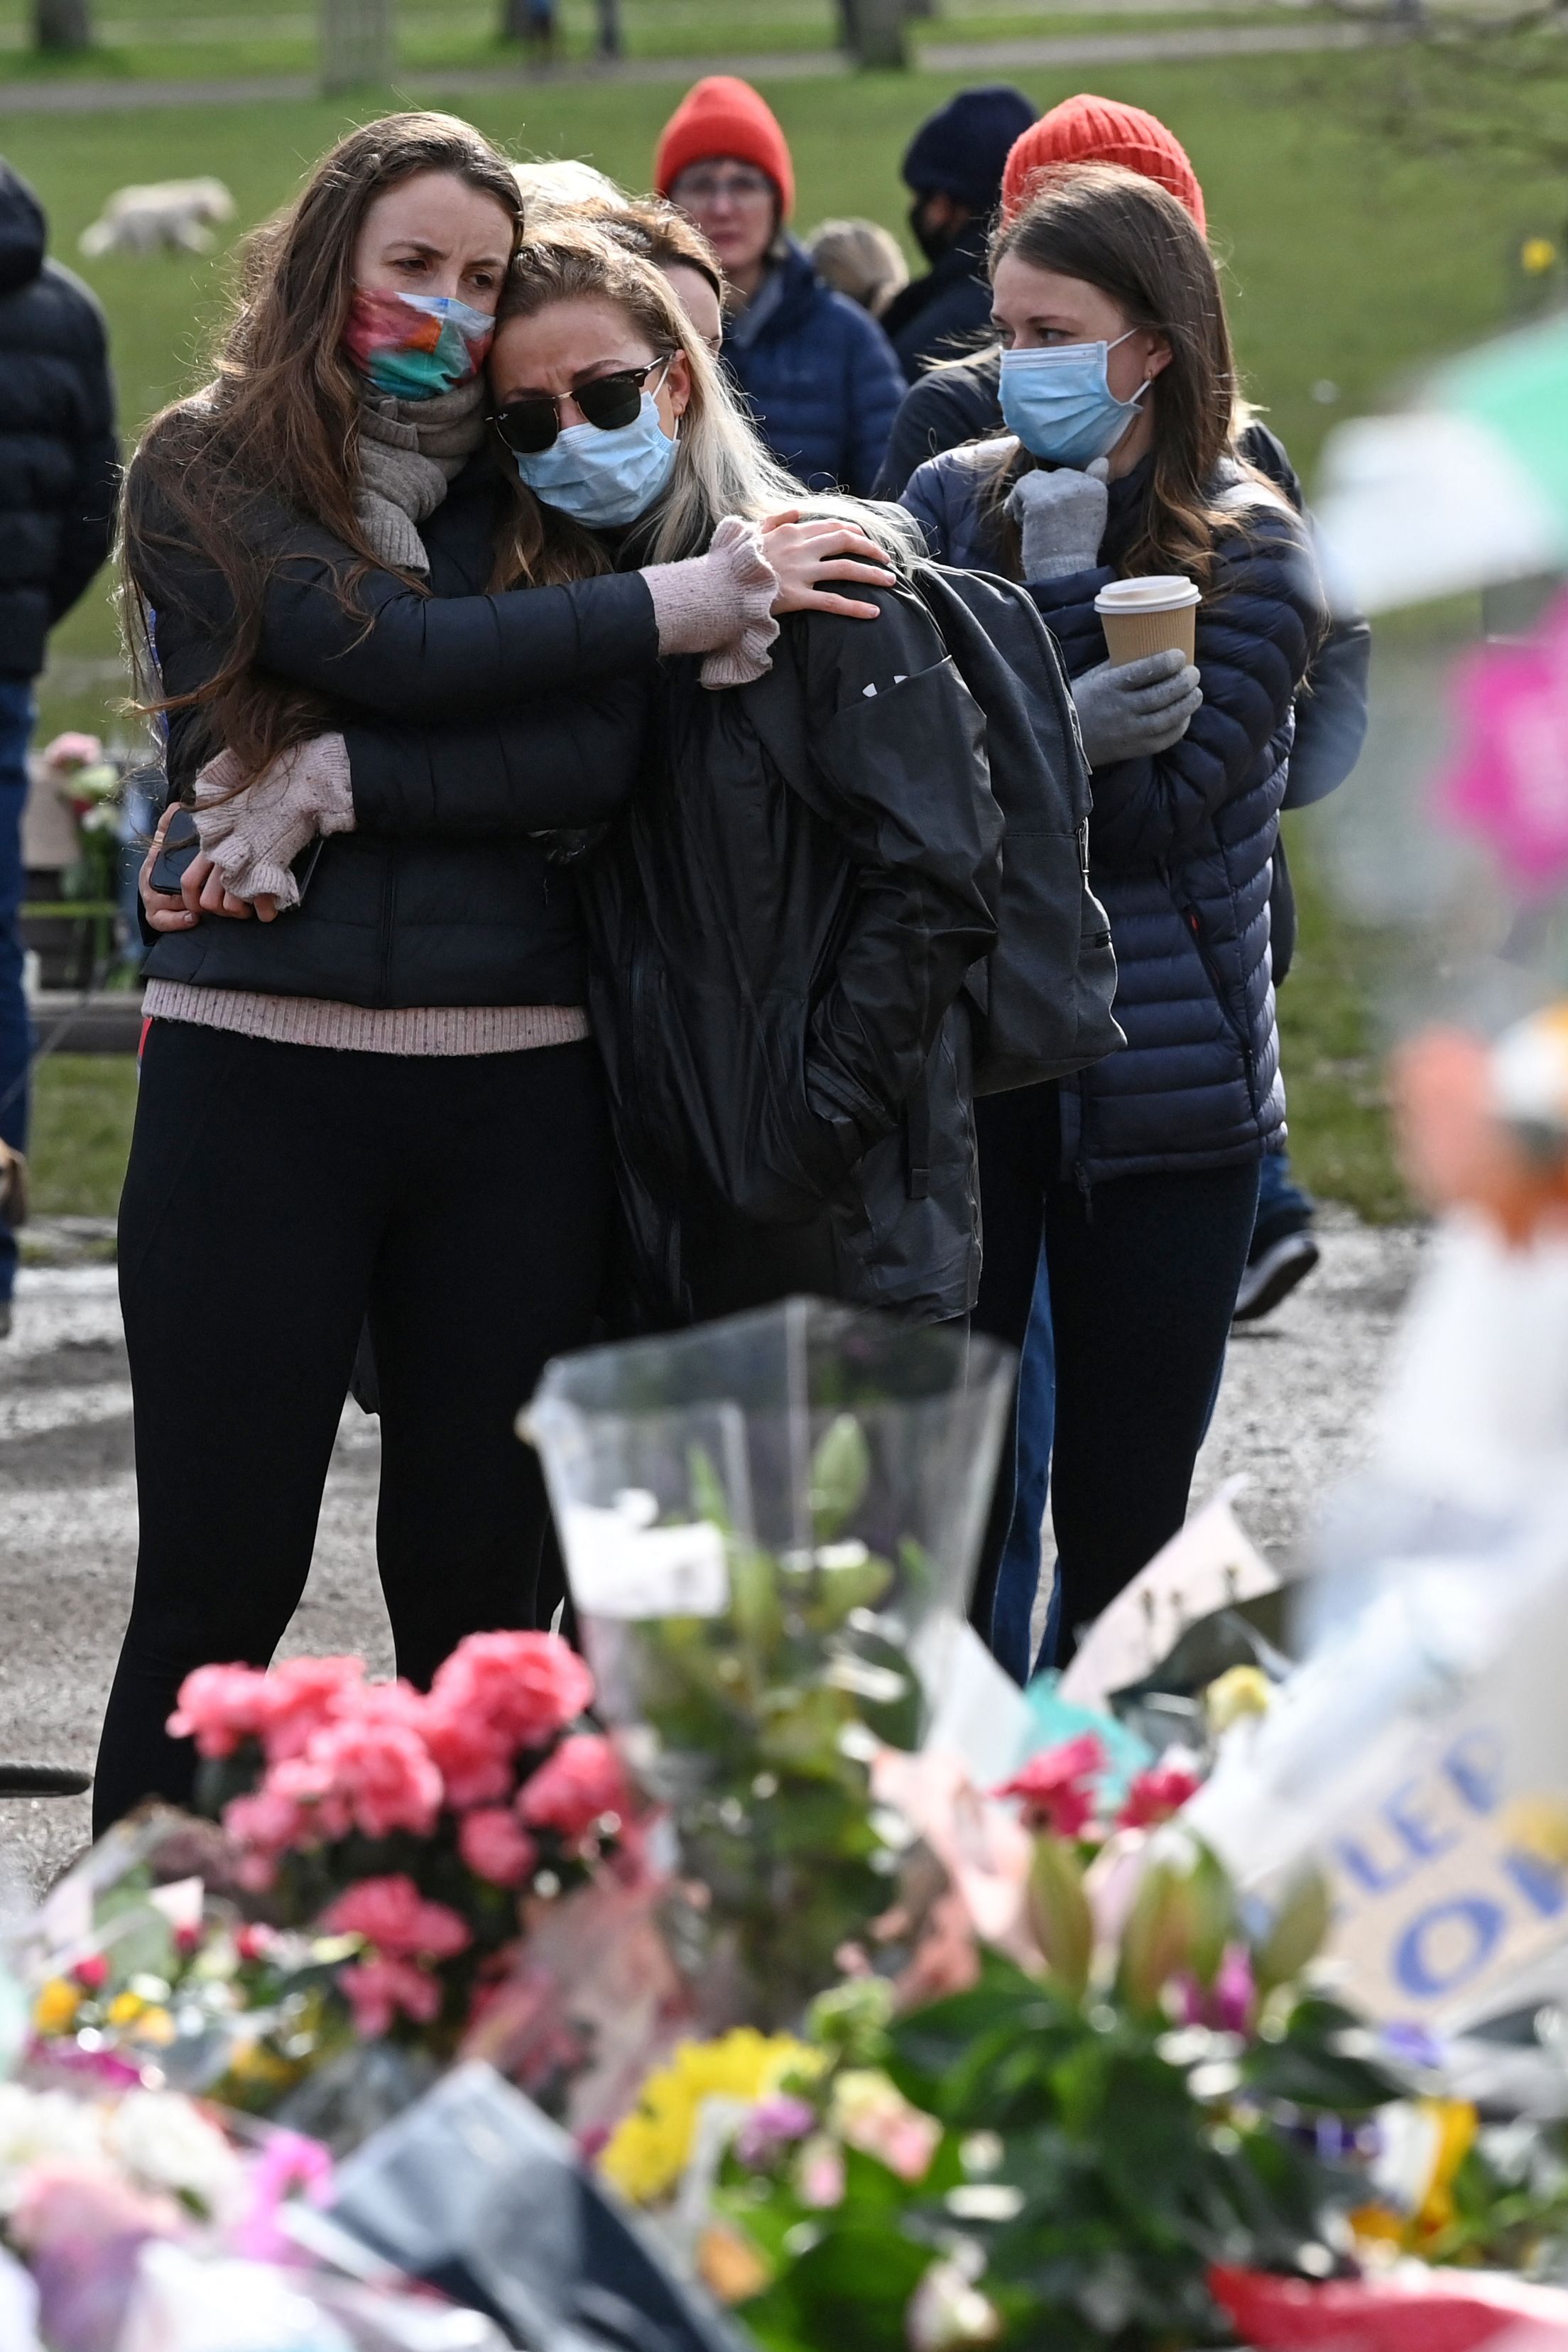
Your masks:
{"label": "person in black jacket and jeans cut off at left edge", "polygon": [[45,256],[47,221],[0,162],[0,1338],[26,1204],[33,1030],[21,985],[21,811],[49,630],[108,555],[120,489],[99,303]]}

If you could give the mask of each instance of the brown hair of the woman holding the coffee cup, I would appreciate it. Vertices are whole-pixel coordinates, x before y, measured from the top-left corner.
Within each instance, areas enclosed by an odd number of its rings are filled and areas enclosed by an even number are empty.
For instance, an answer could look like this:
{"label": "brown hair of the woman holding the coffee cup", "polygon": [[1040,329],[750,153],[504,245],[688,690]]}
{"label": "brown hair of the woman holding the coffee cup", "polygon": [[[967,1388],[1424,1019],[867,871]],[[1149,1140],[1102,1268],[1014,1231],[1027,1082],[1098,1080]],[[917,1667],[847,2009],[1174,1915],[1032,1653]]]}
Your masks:
{"label": "brown hair of the woman holding the coffee cup", "polygon": [[[1213,541],[1237,529],[1220,506],[1222,461],[1232,480],[1255,480],[1234,452],[1237,362],[1213,256],[1192,214],[1152,179],[1119,165],[1063,165],[992,238],[990,270],[1013,256],[1037,270],[1081,278],[1110,294],[1128,327],[1161,334],[1171,362],[1154,376],[1154,470],[1138,539],[1121,569],[1185,572],[1208,588]],[[1011,456],[992,485],[997,508],[1034,459]],[[999,517],[1001,522],[1001,517]],[[1001,529],[1011,529],[1001,522]],[[1004,546],[1016,562],[1018,546]]]}

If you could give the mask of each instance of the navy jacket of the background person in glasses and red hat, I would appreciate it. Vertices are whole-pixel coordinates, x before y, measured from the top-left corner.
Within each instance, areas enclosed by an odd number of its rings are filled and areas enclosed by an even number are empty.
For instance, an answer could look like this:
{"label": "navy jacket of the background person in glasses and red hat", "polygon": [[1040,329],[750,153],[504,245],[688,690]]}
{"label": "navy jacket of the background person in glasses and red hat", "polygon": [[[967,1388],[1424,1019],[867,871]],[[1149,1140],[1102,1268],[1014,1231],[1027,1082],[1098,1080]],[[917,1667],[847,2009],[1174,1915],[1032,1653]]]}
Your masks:
{"label": "navy jacket of the background person in glasses and red hat", "polygon": [[811,489],[870,499],[903,367],[877,320],[823,285],[804,247],[790,242],[724,358],[780,466]]}

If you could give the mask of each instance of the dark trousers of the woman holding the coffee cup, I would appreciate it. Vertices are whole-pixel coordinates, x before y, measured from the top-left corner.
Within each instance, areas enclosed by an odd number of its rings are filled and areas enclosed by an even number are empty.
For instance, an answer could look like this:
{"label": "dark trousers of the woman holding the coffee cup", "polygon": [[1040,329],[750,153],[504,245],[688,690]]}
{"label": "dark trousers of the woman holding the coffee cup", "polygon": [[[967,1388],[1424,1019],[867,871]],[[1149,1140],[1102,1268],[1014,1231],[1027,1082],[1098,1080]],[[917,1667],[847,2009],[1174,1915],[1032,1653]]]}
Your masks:
{"label": "dark trousers of the woman holding the coffee cup", "polygon": [[[976,1329],[1023,1348],[1044,1240],[1056,1334],[1051,1519],[1058,1658],[1187,1515],[1192,1465],[1258,1209],[1258,1162],[1117,1176],[1088,1195],[1060,1178],[1056,1087],[976,1103],[985,1268]],[[990,1637],[1013,1517],[1004,1446],[971,1618]]]}

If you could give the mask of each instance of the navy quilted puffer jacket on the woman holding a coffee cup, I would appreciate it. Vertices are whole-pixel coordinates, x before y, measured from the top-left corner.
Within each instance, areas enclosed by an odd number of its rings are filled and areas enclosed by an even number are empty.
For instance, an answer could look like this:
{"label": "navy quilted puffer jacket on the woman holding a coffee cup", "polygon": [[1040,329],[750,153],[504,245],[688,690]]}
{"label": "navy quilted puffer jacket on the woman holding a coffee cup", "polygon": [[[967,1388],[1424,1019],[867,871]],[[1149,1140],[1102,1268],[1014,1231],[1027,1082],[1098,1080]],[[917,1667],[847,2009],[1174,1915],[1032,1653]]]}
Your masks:
{"label": "navy quilted puffer jacket on the woman holding a coffee cup", "polygon": [[[994,447],[952,449],[910,480],[903,503],[940,560],[997,567],[983,496],[994,461]],[[1147,485],[1150,461],[1112,482],[1103,564],[1034,590],[1070,677],[1105,661],[1093,600],[1138,534]],[[1063,1174],[1084,1183],[1253,1160],[1284,1127],[1269,873],[1295,689],[1324,612],[1286,501],[1234,475],[1218,492],[1237,527],[1199,607],[1204,706],[1171,750],[1093,774],[1091,880],[1128,1042],[1063,1082]]]}

